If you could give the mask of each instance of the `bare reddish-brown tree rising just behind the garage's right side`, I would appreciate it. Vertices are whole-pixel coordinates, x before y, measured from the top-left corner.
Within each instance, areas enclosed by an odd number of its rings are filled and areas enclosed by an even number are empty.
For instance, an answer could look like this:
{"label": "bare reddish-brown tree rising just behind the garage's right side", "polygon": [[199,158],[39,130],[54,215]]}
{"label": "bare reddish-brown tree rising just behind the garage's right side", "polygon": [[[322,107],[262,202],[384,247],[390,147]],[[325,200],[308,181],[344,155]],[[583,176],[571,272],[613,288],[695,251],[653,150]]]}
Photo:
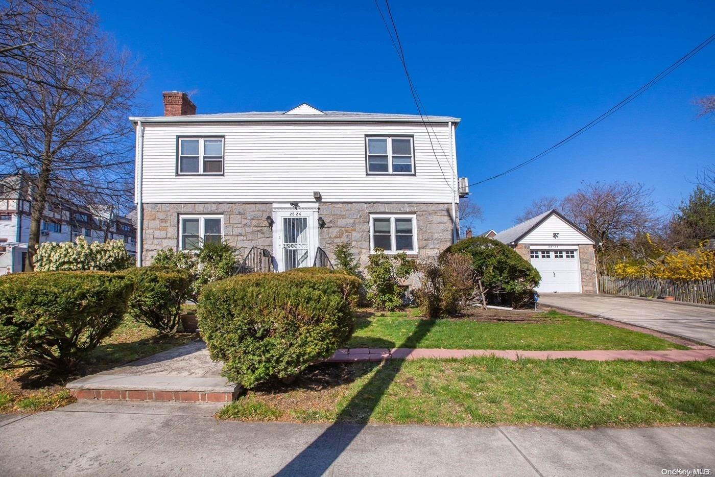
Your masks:
{"label": "bare reddish-brown tree rising just behind the garage's right side", "polygon": [[563,213],[596,238],[600,270],[622,247],[654,228],[652,193],[638,182],[584,182],[563,200]]}

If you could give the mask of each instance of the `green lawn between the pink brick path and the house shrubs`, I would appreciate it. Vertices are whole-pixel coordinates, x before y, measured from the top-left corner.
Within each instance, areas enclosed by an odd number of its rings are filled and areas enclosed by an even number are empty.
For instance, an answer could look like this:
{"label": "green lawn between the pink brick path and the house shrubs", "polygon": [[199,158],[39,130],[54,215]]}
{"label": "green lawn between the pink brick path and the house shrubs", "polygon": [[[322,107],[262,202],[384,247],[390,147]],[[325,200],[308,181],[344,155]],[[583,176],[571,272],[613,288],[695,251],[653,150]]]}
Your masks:
{"label": "green lawn between the pink brick path and the house shrubs", "polygon": [[433,320],[415,340],[420,318],[408,312],[358,318],[346,348],[445,348],[476,350],[686,350],[647,333],[583,320],[557,312],[534,315],[538,323]]}

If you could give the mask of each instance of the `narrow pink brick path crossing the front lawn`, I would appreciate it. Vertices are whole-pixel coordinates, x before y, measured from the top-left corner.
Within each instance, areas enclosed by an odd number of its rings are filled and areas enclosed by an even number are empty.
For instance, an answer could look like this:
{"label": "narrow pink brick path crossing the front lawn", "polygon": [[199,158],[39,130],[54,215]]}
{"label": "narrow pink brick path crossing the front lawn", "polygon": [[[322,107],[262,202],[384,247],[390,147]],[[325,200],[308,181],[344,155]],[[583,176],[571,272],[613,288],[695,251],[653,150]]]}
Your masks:
{"label": "narrow pink brick path crossing the front lawn", "polygon": [[576,358],[589,361],[705,361],[715,359],[715,349],[701,346],[704,349],[641,351],[641,350],[585,350],[585,351],[524,351],[524,350],[444,350],[433,348],[344,348],[337,350],[327,361],[335,363],[352,363],[355,361],[382,361],[389,359],[418,360],[423,358],[461,359],[480,356],[496,356],[508,360],[531,358],[548,360],[559,358]]}

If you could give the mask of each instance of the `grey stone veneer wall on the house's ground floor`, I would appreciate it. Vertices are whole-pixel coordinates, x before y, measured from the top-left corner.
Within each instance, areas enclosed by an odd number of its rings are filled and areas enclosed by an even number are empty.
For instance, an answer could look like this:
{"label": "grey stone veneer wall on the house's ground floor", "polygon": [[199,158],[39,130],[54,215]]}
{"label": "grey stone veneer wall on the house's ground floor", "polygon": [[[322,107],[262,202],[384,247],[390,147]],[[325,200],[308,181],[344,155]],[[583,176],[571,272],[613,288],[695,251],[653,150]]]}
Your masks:
{"label": "grey stone veneer wall on the house's ground floor", "polygon": [[[319,243],[330,260],[334,260],[336,245],[348,243],[360,264],[367,265],[370,213],[416,214],[420,258],[436,256],[452,243],[450,204],[321,202],[317,205],[318,215],[325,220],[325,228],[318,232]],[[149,265],[158,250],[177,250],[179,214],[223,214],[225,240],[245,252],[254,245],[273,252],[273,230],[265,220],[272,215],[272,209],[272,203],[144,204],[144,265]]]}

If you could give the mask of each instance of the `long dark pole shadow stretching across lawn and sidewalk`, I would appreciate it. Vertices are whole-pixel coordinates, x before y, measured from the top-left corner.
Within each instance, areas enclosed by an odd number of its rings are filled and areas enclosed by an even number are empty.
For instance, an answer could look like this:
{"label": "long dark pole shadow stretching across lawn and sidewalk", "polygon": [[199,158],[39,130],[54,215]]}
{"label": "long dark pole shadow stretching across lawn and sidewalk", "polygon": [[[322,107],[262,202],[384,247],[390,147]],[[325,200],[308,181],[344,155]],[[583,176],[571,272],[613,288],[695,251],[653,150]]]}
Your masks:
{"label": "long dark pole shadow stretching across lawn and sidewalk", "polygon": [[[435,320],[420,320],[405,343],[419,343],[430,332]],[[334,463],[347,446],[363,431],[380,399],[390,388],[402,369],[404,360],[383,361],[375,374],[358,390],[345,408],[335,416],[335,422],[315,438],[309,446],[287,463],[276,476],[321,476]],[[350,421],[352,425],[344,422]]]}

